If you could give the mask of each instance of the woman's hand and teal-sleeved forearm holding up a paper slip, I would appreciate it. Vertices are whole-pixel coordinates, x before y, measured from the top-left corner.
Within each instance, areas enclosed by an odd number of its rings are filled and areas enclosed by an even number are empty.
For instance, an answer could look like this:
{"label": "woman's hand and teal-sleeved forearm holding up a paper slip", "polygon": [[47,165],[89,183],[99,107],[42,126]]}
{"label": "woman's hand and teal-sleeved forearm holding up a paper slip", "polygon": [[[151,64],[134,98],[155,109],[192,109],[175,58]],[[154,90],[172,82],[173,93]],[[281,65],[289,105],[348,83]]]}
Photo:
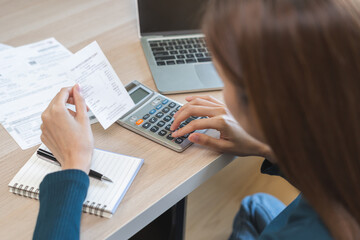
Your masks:
{"label": "woman's hand and teal-sleeved forearm holding up a paper slip", "polygon": [[[76,112],[66,103],[75,104]],[[93,136],[78,85],[63,88],[42,114],[42,142],[63,171],[40,184],[40,210],[34,239],[79,239],[82,204],[89,188]]]}

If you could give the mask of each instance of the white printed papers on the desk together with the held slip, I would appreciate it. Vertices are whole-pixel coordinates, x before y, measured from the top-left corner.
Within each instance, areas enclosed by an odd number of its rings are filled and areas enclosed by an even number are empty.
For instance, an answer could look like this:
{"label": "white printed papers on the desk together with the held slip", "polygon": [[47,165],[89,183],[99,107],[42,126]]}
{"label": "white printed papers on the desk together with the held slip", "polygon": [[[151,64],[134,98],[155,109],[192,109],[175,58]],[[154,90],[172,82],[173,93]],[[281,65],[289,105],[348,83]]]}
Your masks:
{"label": "white printed papers on the desk together with the held slip", "polygon": [[0,45],[0,123],[22,149],[40,144],[41,113],[75,83],[105,129],[134,106],[96,42],[76,54],[54,38]]}

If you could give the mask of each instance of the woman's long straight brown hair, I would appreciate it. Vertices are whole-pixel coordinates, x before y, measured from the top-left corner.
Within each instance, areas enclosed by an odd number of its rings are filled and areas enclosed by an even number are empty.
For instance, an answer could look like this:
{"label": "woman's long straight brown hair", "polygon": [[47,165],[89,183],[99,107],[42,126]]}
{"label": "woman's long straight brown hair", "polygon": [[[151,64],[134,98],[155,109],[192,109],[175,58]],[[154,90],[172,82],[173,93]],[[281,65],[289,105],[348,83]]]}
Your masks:
{"label": "woman's long straight brown hair", "polygon": [[204,32],[289,181],[333,237],[360,238],[360,4],[213,0]]}

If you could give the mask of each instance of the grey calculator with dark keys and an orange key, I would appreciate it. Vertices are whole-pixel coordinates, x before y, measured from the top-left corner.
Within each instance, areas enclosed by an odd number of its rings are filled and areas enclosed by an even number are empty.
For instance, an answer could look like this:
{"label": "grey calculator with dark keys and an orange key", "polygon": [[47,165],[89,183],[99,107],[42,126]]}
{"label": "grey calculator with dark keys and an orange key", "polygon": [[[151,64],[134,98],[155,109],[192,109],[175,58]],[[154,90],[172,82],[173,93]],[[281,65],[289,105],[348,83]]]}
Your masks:
{"label": "grey calculator with dark keys and an orange key", "polygon": [[[117,120],[118,124],[177,152],[184,151],[192,144],[188,139],[190,134],[178,138],[171,136],[170,126],[174,121],[173,116],[182,104],[149,89],[136,80],[125,88],[135,106]],[[181,123],[180,128],[195,119],[199,118],[186,119]],[[204,133],[205,131],[195,132]]]}

